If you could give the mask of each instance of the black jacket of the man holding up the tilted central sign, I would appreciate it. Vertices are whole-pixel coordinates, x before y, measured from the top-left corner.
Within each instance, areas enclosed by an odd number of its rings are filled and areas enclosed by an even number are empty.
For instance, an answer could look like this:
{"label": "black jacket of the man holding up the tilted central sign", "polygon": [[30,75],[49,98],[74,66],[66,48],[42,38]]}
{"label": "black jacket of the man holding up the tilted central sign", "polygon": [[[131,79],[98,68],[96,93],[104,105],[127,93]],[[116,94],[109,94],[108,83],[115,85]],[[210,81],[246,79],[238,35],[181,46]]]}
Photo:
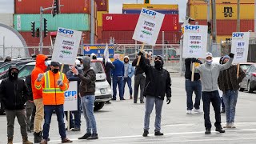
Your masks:
{"label": "black jacket of the man holding up the tilted central sign", "polygon": [[[163,59],[161,58],[162,65]],[[161,69],[157,70],[154,66],[147,65],[145,62],[145,57],[142,56],[139,62],[139,67],[145,71],[146,82],[143,95],[156,97],[159,99],[164,99],[166,97],[171,97],[171,79],[170,74],[167,70]]]}

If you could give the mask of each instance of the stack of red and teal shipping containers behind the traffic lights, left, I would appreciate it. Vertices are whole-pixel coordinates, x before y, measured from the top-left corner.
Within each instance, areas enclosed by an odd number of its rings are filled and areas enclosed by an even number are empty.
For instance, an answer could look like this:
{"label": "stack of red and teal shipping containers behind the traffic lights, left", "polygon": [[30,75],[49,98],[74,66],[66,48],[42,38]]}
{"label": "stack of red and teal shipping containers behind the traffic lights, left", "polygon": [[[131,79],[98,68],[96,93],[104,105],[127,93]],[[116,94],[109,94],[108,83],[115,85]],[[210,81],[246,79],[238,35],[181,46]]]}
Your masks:
{"label": "stack of red and teal shipping containers behind the traffic lights, left", "polygon": [[[90,0],[61,0],[60,13],[54,18],[52,10],[44,11],[43,18],[47,19],[49,31],[57,31],[58,27],[66,27],[73,30],[80,30],[85,35],[84,43],[90,42]],[[35,22],[35,27],[39,27],[40,6],[43,8],[53,5],[53,0],[15,0],[14,1],[14,28],[25,38],[28,46],[38,46],[39,38],[31,36],[31,24]],[[97,5],[94,4],[94,21],[97,26]],[[97,30],[96,30],[97,31]],[[96,38],[96,34],[95,34]],[[50,46],[50,32],[43,39],[44,46]],[[34,51],[30,51],[34,53]]]}

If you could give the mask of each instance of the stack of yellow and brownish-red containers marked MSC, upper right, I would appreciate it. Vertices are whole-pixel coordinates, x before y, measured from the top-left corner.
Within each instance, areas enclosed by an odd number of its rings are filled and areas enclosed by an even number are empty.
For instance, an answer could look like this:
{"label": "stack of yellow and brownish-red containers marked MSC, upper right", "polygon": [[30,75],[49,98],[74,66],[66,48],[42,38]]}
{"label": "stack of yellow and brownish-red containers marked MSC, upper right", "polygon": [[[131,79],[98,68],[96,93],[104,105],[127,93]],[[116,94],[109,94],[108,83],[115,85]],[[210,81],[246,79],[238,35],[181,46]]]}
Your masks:
{"label": "stack of yellow and brownish-red containers marked MSC, upper right", "polygon": [[[216,0],[217,42],[231,38],[237,27],[237,0]],[[189,0],[187,15],[194,18],[200,25],[207,25],[206,2]],[[211,14],[210,14],[211,15]],[[254,30],[254,0],[240,2],[240,31]],[[194,24],[194,22],[193,22]]]}

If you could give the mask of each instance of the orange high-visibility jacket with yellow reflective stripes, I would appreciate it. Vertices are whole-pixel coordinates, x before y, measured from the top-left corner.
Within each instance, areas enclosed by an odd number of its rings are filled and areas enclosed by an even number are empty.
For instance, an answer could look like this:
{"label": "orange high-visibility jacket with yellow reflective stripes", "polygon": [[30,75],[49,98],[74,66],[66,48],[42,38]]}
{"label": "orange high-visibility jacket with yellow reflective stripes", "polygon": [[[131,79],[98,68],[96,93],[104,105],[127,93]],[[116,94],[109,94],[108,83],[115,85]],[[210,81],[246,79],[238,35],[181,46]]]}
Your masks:
{"label": "orange high-visibility jacket with yellow reflective stripes", "polygon": [[62,73],[62,86],[57,85],[57,81],[60,78],[60,72],[54,74],[51,70],[48,70],[43,74],[42,81],[35,80],[34,87],[38,90],[42,89],[42,102],[44,105],[63,105],[65,101],[64,92],[69,88],[69,81],[66,78],[66,74]]}

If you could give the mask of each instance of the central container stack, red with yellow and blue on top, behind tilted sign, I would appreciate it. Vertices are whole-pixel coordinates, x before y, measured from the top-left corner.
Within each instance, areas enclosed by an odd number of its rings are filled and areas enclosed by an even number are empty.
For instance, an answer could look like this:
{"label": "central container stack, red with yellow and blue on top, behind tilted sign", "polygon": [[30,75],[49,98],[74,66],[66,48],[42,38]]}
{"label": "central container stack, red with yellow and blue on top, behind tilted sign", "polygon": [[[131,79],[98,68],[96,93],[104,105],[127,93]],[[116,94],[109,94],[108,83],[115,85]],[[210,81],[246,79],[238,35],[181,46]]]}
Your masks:
{"label": "central container stack, red with yellow and blue on top, behind tilted sign", "polygon": [[103,14],[102,42],[109,42],[112,37],[116,43],[135,43],[132,37],[142,7],[165,14],[157,43],[162,43],[162,31],[166,41],[179,41],[178,5],[123,4],[123,14]]}

